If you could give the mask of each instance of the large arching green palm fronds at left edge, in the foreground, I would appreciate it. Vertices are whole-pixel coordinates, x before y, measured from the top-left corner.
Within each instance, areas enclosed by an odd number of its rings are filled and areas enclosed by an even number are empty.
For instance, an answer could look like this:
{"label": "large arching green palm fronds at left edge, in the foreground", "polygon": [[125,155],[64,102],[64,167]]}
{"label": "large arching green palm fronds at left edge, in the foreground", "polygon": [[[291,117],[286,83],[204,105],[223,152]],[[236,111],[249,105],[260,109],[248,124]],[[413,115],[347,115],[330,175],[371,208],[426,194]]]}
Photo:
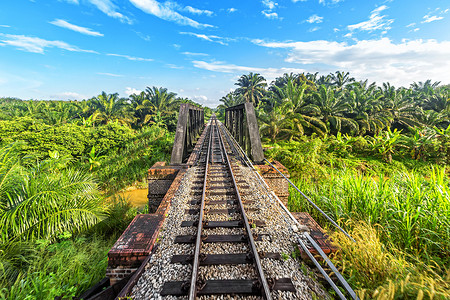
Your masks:
{"label": "large arching green palm fronds at left edge, in the foreground", "polygon": [[98,222],[100,198],[91,175],[55,154],[21,167],[18,145],[0,149],[2,243],[54,239],[60,232],[82,231]]}

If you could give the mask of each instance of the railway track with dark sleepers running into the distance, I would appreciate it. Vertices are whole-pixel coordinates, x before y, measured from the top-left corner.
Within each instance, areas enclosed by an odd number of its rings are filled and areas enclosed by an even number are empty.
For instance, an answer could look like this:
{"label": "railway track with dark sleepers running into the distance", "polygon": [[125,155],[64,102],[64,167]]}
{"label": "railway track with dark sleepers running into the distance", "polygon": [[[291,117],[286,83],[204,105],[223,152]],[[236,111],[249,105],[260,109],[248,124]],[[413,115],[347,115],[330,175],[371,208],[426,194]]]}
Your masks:
{"label": "railway track with dark sleepers running into the distance", "polygon": [[[266,278],[263,260],[280,259],[276,252],[258,251],[257,242],[270,236],[262,233],[264,222],[247,216],[251,201],[243,200],[249,192],[234,157],[213,116],[197,161],[188,209],[180,220],[181,227],[192,228],[192,234],[177,235],[176,244],[192,245],[190,254],[175,254],[171,264],[191,265],[190,280],[166,281],[161,296],[188,296],[189,299],[210,295],[250,296],[272,299],[272,292],[296,289],[290,278]],[[258,230],[256,230],[258,229]],[[257,234],[258,232],[258,234]],[[222,266],[239,266],[234,278],[221,279]],[[226,269],[223,269],[226,270]],[[219,271],[219,272],[218,272]]]}

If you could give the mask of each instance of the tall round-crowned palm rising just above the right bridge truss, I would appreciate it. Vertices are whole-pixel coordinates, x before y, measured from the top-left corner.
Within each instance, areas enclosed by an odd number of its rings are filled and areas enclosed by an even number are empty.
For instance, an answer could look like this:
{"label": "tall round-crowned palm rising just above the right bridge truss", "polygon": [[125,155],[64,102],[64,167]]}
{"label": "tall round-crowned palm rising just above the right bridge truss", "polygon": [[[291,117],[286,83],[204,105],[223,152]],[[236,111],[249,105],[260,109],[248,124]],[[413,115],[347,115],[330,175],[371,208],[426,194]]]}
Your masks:
{"label": "tall round-crowned palm rising just above the right bridge truss", "polygon": [[239,86],[236,93],[241,94],[246,102],[257,106],[266,93],[267,83],[266,79],[258,73],[250,72],[248,75],[242,75],[235,85]]}

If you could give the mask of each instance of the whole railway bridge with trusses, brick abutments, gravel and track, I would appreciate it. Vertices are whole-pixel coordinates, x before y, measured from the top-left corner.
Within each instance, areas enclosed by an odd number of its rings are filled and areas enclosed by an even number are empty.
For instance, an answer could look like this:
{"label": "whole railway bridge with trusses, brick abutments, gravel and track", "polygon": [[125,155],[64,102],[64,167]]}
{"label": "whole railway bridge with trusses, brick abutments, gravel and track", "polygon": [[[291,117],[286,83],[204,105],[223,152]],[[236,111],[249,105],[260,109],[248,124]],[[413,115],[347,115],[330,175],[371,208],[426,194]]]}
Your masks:
{"label": "whole railway bridge with trusses, brick abutments, gravel and track", "polygon": [[325,232],[287,209],[290,184],[286,168],[264,158],[251,103],[226,109],[223,123],[181,105],[171,162],[149,170],[151,213],[130,223],[108,253],[105,280],[84,297],[332,299],[334,289],[356,299],[327,256],[336,248]]}

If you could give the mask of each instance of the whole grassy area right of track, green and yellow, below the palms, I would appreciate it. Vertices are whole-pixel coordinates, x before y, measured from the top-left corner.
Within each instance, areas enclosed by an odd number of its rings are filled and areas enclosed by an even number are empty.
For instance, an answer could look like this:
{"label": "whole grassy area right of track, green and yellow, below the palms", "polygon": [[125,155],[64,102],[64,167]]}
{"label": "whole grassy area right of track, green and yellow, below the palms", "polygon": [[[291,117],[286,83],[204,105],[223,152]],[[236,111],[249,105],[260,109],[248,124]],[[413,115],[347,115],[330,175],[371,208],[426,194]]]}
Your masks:
{"label": "whole grassy area right of track, green and yellow, below the palms", "polygon": [[[450,178],[447,166],[370,156],[361,144],[336,150],[319,138],[270,145],[291,180],[356,239],[335,232],[333,258],[361,299],[450,297]],[[355,146],[355,145],[353,145]],[[294,189],[289,209],[329,222]]]}

